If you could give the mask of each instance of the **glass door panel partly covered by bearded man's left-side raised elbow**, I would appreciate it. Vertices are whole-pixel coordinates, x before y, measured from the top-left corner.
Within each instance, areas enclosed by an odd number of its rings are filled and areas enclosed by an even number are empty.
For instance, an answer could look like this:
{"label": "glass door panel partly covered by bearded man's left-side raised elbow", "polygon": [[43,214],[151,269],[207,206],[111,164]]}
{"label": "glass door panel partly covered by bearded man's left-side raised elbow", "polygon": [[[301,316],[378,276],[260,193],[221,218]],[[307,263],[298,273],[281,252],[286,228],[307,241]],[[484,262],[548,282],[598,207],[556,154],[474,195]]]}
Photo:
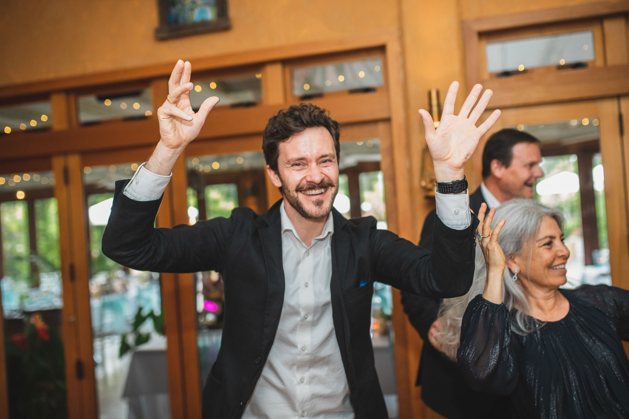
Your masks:
{"label": "glass door panel partly covered by bearded man's left-side raised elbow", "polygon": [[157,272],[121,266],[101,252],[114,183],[137,163],[84,167],[89,294],[101,419],[170,416],[164,315]]}

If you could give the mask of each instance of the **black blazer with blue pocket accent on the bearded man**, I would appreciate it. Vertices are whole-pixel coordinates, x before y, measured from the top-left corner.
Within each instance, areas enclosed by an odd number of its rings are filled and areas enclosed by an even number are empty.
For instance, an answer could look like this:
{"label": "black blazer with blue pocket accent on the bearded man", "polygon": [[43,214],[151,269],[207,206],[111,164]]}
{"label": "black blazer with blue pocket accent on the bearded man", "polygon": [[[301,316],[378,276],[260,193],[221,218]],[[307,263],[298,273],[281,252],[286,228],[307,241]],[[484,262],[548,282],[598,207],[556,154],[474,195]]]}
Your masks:
{"label": "black blazer with blue pocket accent on the bearded man", "polygon": [[[202,416],[240,418],[269,355],[284,302],[281,201],[262,216],[236,208],[230,218],[153,228],[161,199],[130,199],[122,193],[127,182],[116,182],[103,254],[143,271],[221,272],[223,339],[203,389]],[[356,418],[386,418],[369,336],[373,282],[433,298],[465,294],[474,274],[477,220],[453,230],[435,217],[431,257],[408,240],[377,230],[373,217],[345,220],[332,212],[332,316],[350,401]]]}

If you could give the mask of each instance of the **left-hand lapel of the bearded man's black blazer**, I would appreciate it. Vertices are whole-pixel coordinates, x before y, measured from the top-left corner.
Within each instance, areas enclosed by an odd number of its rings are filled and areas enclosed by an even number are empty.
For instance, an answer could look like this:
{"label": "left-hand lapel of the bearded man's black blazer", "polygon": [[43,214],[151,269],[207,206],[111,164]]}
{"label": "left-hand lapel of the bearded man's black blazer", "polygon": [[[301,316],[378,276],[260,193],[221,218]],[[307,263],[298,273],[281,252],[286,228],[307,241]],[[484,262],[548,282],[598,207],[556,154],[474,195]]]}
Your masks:
{"label": "left-hand lapel of the bearded man's black blazer", "polygon": [[279,206],[280,199],[259,220],[258,234],[262,245],[265,268],[267,271],[267,304],[264,313],[264,340],[262,346],[270,350],[275,338],[279,318],[284,304],[284,264],[282,262],[282,221]]}

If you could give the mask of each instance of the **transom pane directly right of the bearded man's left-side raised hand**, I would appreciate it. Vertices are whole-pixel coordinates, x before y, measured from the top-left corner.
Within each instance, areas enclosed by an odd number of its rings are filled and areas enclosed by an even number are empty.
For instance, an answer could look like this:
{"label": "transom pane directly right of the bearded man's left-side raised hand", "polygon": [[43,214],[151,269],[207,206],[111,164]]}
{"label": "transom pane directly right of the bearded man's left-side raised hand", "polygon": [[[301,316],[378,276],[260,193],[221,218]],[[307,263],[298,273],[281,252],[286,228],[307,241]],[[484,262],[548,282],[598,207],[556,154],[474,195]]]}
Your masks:
{"label": "transom pane directly right of the bearded man's left-side raised hand", "polygon": [[199,109],[203,101],[210,96],[221,99],[216,106],[253,106],[262,100],[262,74],[238,75],[225,79],[208,79],[194,82],[190,91],[190,103],[193,109]]}

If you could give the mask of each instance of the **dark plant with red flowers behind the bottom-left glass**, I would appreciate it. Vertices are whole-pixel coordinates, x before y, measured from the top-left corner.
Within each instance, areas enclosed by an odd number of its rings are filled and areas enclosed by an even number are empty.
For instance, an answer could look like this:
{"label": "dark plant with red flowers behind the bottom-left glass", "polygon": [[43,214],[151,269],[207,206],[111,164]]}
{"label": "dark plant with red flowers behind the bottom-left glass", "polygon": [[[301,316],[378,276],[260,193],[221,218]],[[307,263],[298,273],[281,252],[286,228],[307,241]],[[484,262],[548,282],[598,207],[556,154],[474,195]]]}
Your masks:
{"label": "dark plant with red flowers behind the bottom-left glass", "polygon": [[40,318],[33,323],[34,317],[25,320],[23,333],[5,340],[9,417],[67,418],[64,345]]}

